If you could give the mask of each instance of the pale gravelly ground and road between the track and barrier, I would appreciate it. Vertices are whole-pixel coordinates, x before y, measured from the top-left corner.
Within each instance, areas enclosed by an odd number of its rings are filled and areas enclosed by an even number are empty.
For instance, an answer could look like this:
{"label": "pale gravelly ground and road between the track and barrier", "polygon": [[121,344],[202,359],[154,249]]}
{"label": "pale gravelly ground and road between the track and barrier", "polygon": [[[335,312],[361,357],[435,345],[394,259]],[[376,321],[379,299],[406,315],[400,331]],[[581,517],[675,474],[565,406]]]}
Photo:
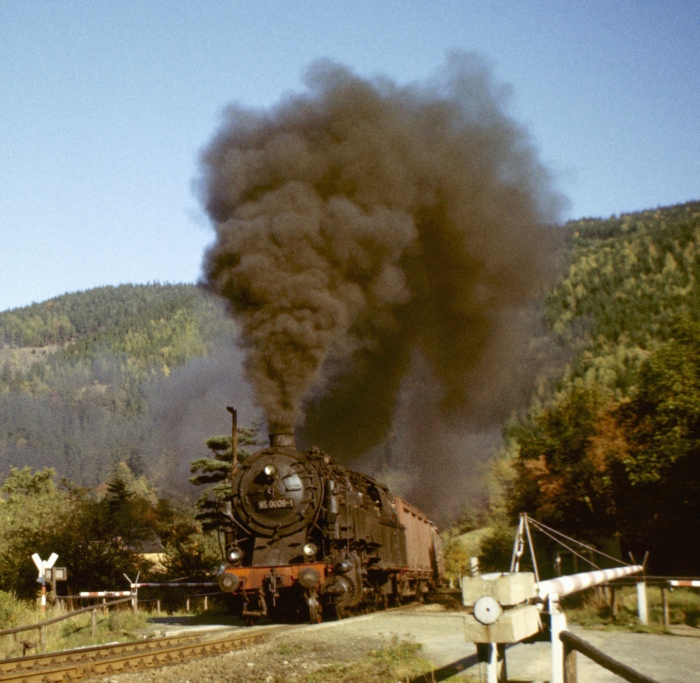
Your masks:
{"label": "pale gravelly ground and road between the track and barrier", "polygon": [[[698,637],[596,631],[575,626],[572,631],[659,683],[700,681]],[[320,624],[274,636],[269,643],[252,650],[101,680],[105,683],[301,682],[324,664],[363,658],[371,649],[380,648],[392,638],[421,643],[422,656],[434,666],[435,681],[486,680],[485,670],[476,661],[476,647],[464,640],[462,615],[438,606],[405,613],[378,612]],[[550,646],[548,643],[515,645],[508,649],[507,664],[512,681],[548,681]],[[578,672],[580,683],[619,683],[621,680],[582,655],[578,656]]]}

